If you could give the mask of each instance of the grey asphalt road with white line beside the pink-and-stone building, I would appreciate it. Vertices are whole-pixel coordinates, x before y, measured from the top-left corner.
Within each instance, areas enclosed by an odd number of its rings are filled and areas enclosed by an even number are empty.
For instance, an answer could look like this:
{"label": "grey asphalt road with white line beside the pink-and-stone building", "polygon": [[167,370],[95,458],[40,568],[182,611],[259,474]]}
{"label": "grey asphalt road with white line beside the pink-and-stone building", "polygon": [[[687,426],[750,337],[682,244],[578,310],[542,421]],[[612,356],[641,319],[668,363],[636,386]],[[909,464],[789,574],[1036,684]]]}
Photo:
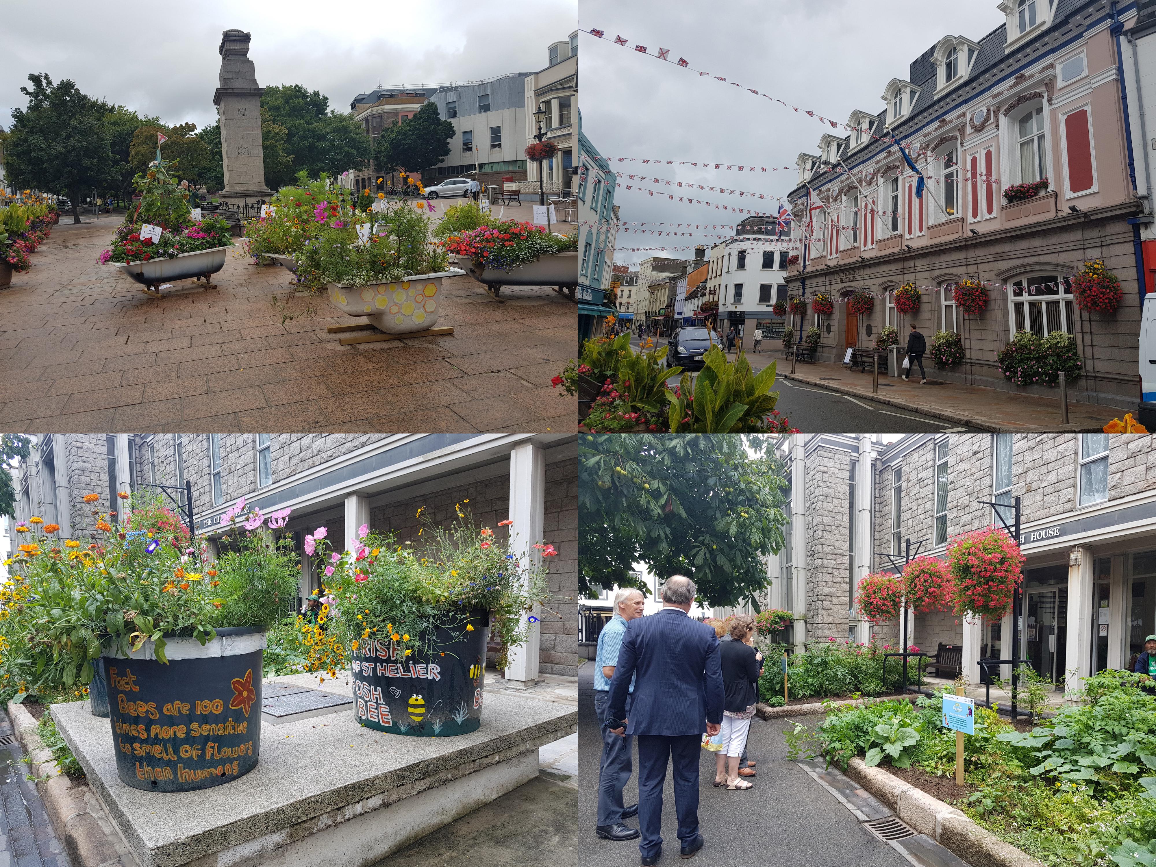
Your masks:
{"label": "grey asphalt road with white line beside the pink-and-stone building", "polygon": [[[632,339],[631,346],[638,349],[637,336]],[[756,370],[762,369],[759,356],[748,355],[747,357]],[[670,377],[667,383],[673,387],[679,384],[679,377]],[[887,387],[883,383],[880,385],[881,388]],[[888,403],[853,398],[809,384],[794,383],[783,377],[776,378],[775,390],[779,393],[779,401],[775,408],[803,433],[843,433],[847,431],[855,433],[965,433],[978,430],[978,428],[966,428],[942,418],[911,413]]]}

